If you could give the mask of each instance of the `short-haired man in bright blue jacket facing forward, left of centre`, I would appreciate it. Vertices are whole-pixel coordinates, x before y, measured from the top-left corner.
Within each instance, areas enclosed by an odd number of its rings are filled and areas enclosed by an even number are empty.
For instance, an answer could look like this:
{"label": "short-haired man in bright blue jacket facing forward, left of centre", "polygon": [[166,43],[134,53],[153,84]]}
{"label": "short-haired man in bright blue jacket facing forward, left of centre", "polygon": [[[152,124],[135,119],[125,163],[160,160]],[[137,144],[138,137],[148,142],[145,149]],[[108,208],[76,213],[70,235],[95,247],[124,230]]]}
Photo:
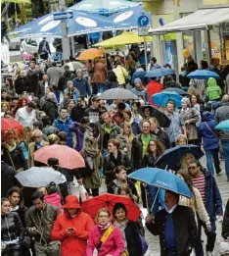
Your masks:
{"label": "short-haired man in bright blue jacket facing forward, left of centre", "polygon": [[58,128],[59,131],[65,131],[67,133],[67,145],[69,147],[73,147],[73,137],[69,130],[71,124],[72,120],[68,117],[67,108],[61,108],[60,117],[54,121],[53,126]]}

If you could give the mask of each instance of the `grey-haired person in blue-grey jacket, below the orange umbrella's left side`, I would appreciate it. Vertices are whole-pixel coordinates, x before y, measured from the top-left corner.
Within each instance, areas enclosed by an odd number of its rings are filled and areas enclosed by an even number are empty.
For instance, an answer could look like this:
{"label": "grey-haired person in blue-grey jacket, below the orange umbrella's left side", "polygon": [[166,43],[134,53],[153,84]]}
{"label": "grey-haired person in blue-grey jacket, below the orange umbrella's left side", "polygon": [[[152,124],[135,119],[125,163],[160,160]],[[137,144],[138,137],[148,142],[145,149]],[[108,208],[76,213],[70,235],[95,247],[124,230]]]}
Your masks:
{"label": "grey-haired person in blue-grey jacket, below the orange umbrella's left side", "polygon": [[76,71],[76,77],[72,80],[74,87],[78,89],[81,96],[87,98],[91,96],[91,88],[86,78],[83,78],[83,73],[81,69]]}

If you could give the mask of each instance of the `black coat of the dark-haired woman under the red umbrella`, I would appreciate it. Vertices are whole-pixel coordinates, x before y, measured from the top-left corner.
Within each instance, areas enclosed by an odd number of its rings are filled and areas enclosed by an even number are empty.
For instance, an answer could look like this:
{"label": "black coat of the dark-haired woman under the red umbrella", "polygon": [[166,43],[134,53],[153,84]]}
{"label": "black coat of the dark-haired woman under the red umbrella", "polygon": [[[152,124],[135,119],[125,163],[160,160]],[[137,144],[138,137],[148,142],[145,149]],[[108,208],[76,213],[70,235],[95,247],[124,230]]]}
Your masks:
{"label": "black coat of the dark-haired woman under the red umbrella", "polygon": [[129,256],[143,256],[142,243],[136,223],[128,222],[125,228],[125,238]]}

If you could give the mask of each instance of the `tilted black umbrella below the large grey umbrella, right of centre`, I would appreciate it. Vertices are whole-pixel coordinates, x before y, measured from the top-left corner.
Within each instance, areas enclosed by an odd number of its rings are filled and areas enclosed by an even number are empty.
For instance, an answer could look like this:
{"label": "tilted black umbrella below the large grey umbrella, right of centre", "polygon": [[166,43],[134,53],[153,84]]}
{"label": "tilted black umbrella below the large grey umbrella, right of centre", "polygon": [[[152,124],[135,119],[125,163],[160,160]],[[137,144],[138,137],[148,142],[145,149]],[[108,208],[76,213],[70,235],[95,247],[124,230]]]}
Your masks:
{"label": "tilted black umbrella below the large grey umbrella, right of centre", "polygon": [[163,112],[161,112],[159,109],[153,106],[150,106],[150,105],[141,106],[139,111],[142,116],[144,115],[143,113],[146,108],[150,109],[151,117],[157,118],[160,128],[168,128],[170,126],[171,121],[169,120],[169,118]]}

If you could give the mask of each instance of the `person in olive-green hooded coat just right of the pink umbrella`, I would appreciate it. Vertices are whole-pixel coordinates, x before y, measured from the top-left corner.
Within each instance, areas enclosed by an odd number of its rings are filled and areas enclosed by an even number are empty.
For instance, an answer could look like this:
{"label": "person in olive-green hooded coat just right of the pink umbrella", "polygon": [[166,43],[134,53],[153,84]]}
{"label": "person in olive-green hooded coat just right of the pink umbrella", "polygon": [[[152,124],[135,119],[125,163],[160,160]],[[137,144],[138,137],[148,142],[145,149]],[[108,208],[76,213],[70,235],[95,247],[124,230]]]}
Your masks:
{"label": "person in olive-green hooded coat just right of the pink umbrella", "polygon": [[98,196],[101,186],[99,170],[103,166],[103,159],[101,152],[98,150],[98,142],[93,136],[85,138],[85,145],[80,154],[85,160],[85,168],[80,172],[82,182],[87,191],[91,189],[92,195]]}

